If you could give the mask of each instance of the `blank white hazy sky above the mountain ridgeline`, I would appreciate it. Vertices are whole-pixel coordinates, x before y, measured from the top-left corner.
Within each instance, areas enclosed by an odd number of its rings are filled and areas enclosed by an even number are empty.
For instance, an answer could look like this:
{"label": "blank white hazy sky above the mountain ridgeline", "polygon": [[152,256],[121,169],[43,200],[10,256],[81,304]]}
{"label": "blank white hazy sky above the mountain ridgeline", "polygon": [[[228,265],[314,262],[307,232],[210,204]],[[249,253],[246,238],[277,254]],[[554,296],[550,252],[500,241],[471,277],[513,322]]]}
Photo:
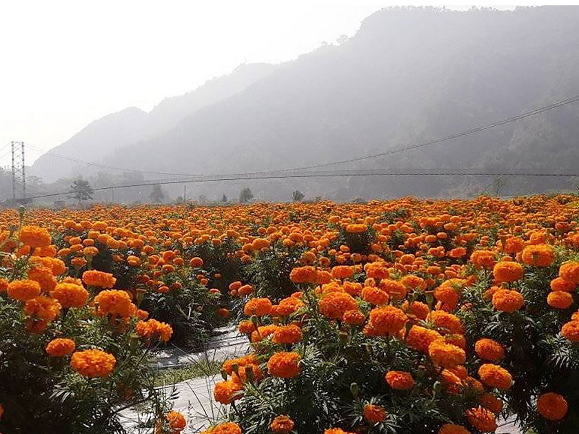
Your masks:
{"label": "blank white hazy sky above the mountain ridgeline", "polygon": [[[10,141],[48,150],[96,118],[151,110],[241,63],[288,61],[352,36],[392,4],[403,3],[0,0],[0,165]],[[28,148],[27,165],[40,154]]]}

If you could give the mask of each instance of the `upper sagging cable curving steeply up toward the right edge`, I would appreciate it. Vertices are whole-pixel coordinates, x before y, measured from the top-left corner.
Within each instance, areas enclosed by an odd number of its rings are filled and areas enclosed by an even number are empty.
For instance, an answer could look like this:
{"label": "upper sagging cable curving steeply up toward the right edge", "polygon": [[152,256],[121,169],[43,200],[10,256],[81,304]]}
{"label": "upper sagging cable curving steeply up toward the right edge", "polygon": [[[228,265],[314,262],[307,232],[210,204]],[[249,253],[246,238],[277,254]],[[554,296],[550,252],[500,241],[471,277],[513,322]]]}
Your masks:
{"label": "upper sagging cable curving steeply up toward the right edge", "polygon": [[[502,119],[501,121],[496,121],[494,123],[489,123],[487,125],[480,125],[478,127],[474,127],[471,128],[470,130],[466,130],[463,132],[457,132],[454,134],[450,134],[449,136],[445,136],[445,137],[441,137],[441,138],[435,138],[433,140],[430,141],[426,141],[423,143],[417,143],[414,145],[407,145],[404,147],[398,147],[395,149],[389,149],[388,151],[385,152],[380,152],[378,154],[370,154],[367,156],[360,156],[360,157],[356,157],[356,158],[349,158],[347,160],[342,160],[342,161],[334,161],[331,163],[321,163],[321,164],[317,164],[317,165],[309,165],[309,166],[303,166],[303,167],[294,167],[292,169],[278,169],[278,170],[265,170],[265,171],[260,171],[260,172],[243,172],[243,173],[237,173],[237,174],[221,174],[219,176],[239,176],[239,175],[259,175],[259,174],[276,174],[276,173],[284,173],[284,172],[294,172],[296,170],[308,170],[308,169],[319,169],[322,167],[329,167],[329,166],[333,166],[333,165],[341,165],[341,164],[346,164],[346,163],[355,163],[357,161],[365,161],[365,160],[370,160],[372,158],[378,158],[381,156],[387,156],[387,155],[392,155],[392,154],[398,154],[400,152],[406,152],[412,149],[419,149],[421,147],[427,147],[429,145],[436,145],[437,143],[443,143],[446,141],[451,141],[454,140],[455,138],[460,138],[460,137],[465,137],[465,136],[469,136],[471,134],[475,134],[477,132],[481,132],[481,131],[485,131],[485,130],[490,130],[491,128],[495,128],[495,127],[499,127],[502,125],[507,125],[509,123],[513,123],[516,121],[520,121],[521,119],[524,118],[528,118],[529,116],[535,116],[536,114],[540,114],[540,113],[544,113],[544,112],[548,112],[550,110],[554,110],[558,107],[563,107],[565,105],[569,105],[572,103],[576,103],[577,101],[579,101],[579,95],[576,96],[571,96],[567,99],[562,99],[560,101],[556,101],[554,103],[551,103],[549,105],[544,105],[542,107],[538,107],[534,110],[531,110],[529,112],[524,112],[522,114],[518,114],[515,116],[511,116],[509,118],[505,118]],[[28,143],[27,143],[28,145]],[[34,149],[39,149],[38,147],[34,147],[32,145],[30,145],[31,147],[33,147]],[[105,169],[113,169],[113,170],[120,170],[123,172],[139,172],[139,173],[143,173],[143,174],[156,174],[156,175],[168,175],[168,176],[198,176],[195,174],[183,174],[183,173],[174,173],[174,172],[153,172],[153,171],[148,171],[148,170],[139,170],[139,169],[123,169],[121,167],[112,167],[112,166],[108,166],[108,165],[101,165],[99,163],[90,163],[88,161],[82,161],[82,160],[78,160],[77,158],[71,158],[71,157],[66,157],[66,156],[61,156],[59,154],[55,154],[54,152],[45,152],[46,154],[52,155],[54,157],[57,158],[63,158],[65,160],[69,160],[69,161],[74,161],[75,163],[80,163],[80,164],[84,164],[84,165],[90,165],[90,166],[94,166],[94,167],[103,167]],[[199,175],[199,176],[206,176],[207,174],[204,175]]]}

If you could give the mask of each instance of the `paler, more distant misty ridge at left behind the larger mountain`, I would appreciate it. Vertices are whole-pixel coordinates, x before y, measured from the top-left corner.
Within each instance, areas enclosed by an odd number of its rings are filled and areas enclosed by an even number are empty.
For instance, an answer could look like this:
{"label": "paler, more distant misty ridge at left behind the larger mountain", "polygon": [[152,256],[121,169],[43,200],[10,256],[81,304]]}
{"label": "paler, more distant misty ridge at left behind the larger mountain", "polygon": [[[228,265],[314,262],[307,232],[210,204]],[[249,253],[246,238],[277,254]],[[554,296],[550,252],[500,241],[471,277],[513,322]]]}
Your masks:
{"label": "paler, more distant misty ridge at left behind the larger mountain", "polygon": [[[231,74],[207,81],[192,92],[164,99],[149,113],[130,107],[108,114],[90,123],[62,145],[51,149],[50,154],[38,158],[30,167],[30,174],[43,178],[45,182],[52,182],[59,178],[96,173],[102,168],[83,165],[74,159],[101,163],[103,157],[116,149],[167,132],[186,116],[229,98],[267,76],[275,68],[265,63],[241,65]],[[110,166],[119,167],[119,164],[114,162]]]}

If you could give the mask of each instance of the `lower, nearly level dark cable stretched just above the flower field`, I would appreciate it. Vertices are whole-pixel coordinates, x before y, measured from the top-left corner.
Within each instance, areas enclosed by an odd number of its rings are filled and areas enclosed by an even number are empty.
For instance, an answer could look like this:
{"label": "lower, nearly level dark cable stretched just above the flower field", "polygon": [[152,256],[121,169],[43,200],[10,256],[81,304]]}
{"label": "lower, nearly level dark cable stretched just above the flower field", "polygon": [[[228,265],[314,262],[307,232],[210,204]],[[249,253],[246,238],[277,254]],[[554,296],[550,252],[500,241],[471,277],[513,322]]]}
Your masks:
{"label": "lower, nearly level dark cable stretched just above the flower field", "polygon": [[[165,180],[161,182],[137,183],[130,185],[111,185],[110,187],[96,187],[92,190],[94,192],[101,192],[108,189],[123,189],[131,187],[151,187],[152,185],[171,185],[171,184],[192,184],[192,183],[212,183],[233,180],[263,180],[263,179],[286,179],[286,178],[335,178],[340,176],[529,176],[529,177],[563,177],[576,178],[579,174],[540,174],[540,173],[478,173],[478,172],[378,172],[378,171],[343,171],[343,172],[319,172],[317,174],[285,174],[285,175],[261,175],[261,176],[245,176],[245,177],[214,177],[205,179],[178,179]],[[47,198],[52,196],[61,196],[65,194],[72,194],[69,190],[67,192],[41,194],[37,196],[29,196],[30,199]]]}

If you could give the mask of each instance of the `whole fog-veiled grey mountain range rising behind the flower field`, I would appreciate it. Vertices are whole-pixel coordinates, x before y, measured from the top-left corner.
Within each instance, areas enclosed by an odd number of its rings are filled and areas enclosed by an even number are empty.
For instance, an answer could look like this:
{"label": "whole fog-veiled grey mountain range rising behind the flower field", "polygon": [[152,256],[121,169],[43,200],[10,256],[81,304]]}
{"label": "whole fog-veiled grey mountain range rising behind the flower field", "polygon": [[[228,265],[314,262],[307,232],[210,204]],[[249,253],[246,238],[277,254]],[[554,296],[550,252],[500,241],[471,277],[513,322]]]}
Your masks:
{"label": "whole fog-veiled grey mountain range rising behind the flower field", "polygon": [[[578,23],[576,7],[389,8],[339,45],[322,45],[277,67],[247,65],[166,99],[149,114],[132,108],[105,116],[54,153],[127,169],[227,174],[384,152],[579,94]],[[569,173],[579,166],[578,141],[576,103],[454,141],[325,169]],[[87,168],[47,155],[32,169],[51,181]],[[248,186],[258,199],[287,200],[301,189],[309,198],[348,200],[477,194],[494,185],[503,194],[524,194],[577,183],[400,176],[187,188],[209,198]]]}

